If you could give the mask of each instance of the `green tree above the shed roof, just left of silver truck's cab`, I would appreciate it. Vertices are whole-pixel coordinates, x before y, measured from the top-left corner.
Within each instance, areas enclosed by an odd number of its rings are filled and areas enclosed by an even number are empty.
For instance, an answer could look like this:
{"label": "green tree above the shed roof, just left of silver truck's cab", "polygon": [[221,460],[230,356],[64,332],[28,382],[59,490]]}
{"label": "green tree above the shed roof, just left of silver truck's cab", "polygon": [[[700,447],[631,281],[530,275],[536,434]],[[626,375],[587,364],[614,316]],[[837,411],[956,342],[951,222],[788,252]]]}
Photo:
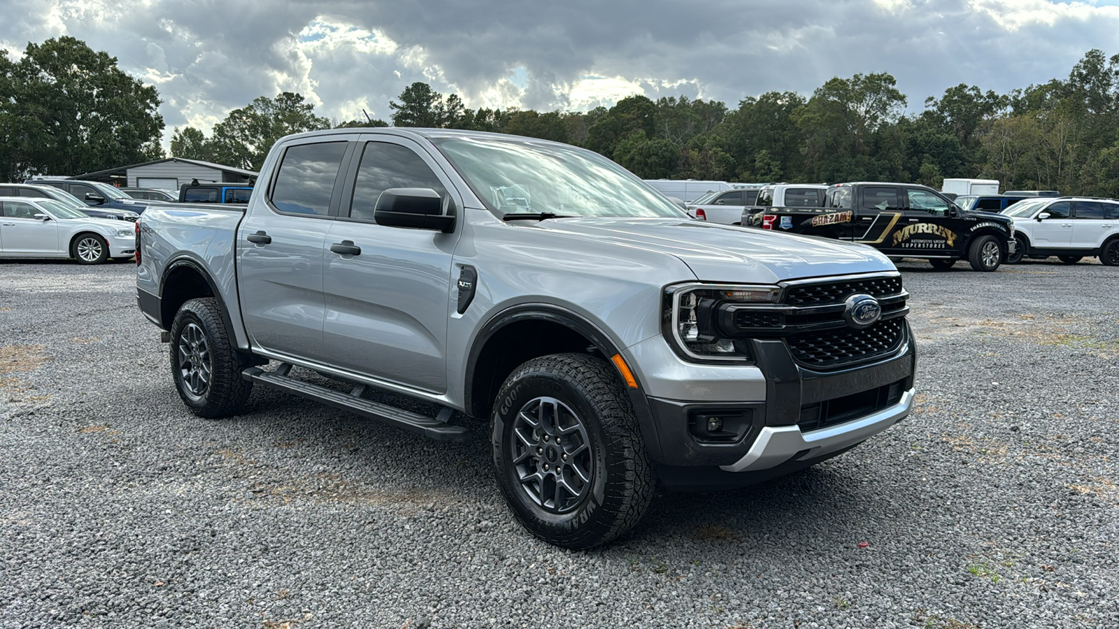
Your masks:
{"label": "green tree above the shed roof, just left of silver truck's cab", "polygon": [[330,121],[314,115],[314,105],[301,94],[281,92],[275,98],[258,96],[229,112],[214,126],[214,161],[260,170],[272,144],[291,133],[330,129]]}

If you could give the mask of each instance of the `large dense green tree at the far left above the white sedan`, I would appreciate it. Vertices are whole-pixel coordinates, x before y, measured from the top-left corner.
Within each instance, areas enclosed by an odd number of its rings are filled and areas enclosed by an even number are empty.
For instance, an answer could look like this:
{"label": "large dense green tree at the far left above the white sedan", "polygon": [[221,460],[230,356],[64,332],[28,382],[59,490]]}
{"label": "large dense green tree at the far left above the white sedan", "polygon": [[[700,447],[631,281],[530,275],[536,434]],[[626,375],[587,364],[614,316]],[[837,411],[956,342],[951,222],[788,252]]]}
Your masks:
{"label": "large dense green tree at the far left above the white sedan", "polygon": [[29,43],[18,62],[0,59],[0,156],[8,177],[78,175],[157,152],[159,94],[121,71],[115,57],[59,37]]}

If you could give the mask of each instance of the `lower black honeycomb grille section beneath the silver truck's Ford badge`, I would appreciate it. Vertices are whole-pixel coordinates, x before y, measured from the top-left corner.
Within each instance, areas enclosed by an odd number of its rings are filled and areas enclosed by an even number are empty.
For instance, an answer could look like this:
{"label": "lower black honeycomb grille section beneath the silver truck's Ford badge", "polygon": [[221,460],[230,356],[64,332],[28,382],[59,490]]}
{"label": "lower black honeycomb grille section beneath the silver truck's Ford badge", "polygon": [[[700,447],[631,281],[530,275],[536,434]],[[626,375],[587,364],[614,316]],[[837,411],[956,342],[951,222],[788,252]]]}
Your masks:
{"label": "lower black honeycomb grille section beneath the silver truck's Ford badge", "polygon": [[856,330],[848,327],[788,337],[792,357],[817,369],[838,367],[891,354],[901,347],[905,319],[887,319]]}

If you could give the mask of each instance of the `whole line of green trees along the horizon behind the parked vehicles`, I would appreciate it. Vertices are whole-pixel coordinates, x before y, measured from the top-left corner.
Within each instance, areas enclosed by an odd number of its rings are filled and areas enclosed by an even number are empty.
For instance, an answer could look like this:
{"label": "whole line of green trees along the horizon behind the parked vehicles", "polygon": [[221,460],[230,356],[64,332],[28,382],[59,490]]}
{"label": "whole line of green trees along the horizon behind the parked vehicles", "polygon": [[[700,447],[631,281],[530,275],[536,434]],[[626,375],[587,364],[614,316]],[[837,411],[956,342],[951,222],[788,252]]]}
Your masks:
{"label": "whole line of green trees along the horizon behind the parked vehicles", "polygon": [[[0,168],[76,175],[163,157],[156,88],[116,59],[62,37],[0,50]],[[413,83],[391,121],[319,116],[302,95],[261,96],[209,135],[175,129],[171,156],[258,170],[275,140],[302,131],[434,126],[527,135],[596,151],[646,179],[915,181],[998,179],[1005,189],[1119,196],[1119,55],[1089,50],[1066,78],[984,92],[960,84],[920,113],[887,73],[835,77],[812,92],[725,103],[686,96],[622,98],[587,112],[467,107]]]}

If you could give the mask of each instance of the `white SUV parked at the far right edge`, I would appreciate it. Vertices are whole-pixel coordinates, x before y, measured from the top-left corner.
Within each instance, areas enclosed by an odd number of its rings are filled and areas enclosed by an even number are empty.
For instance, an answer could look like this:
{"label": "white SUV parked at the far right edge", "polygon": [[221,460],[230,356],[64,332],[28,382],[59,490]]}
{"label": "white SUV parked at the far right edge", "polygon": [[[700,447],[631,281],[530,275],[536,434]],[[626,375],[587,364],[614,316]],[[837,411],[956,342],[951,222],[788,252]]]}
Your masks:
{"label": "white SUV parked at the far right edge", "polygon": [[1119,201],[1089,197],[1037,197],[1021,200],[1003,213],[1014,217],[1018,246],[1006,262],[1023,257],[1057,256],[1065,264],[1097,255],[1102,264],[1119,266]]}

